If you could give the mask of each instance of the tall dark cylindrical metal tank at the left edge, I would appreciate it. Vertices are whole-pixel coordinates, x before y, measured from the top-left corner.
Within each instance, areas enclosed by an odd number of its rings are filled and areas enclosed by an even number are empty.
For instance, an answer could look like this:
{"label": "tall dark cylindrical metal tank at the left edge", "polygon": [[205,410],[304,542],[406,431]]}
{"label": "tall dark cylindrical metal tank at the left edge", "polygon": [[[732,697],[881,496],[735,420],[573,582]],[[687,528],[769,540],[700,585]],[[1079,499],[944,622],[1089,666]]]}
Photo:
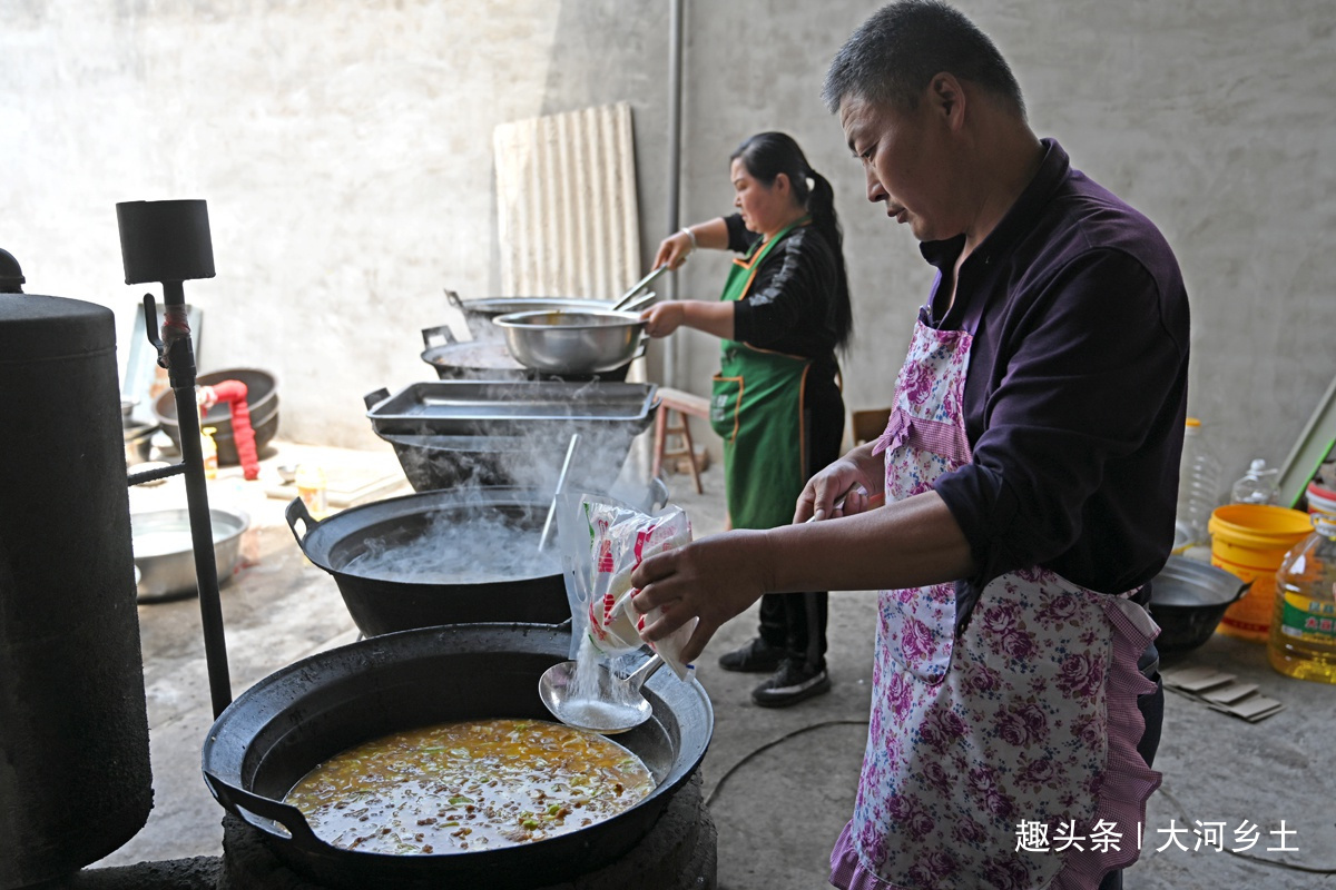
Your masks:
{"label": "tall dark cylindrical metal tank at the left edge", "polygon": [[0,890],[96,862],[152,809],[114,316],[15,280],[0,290]]}

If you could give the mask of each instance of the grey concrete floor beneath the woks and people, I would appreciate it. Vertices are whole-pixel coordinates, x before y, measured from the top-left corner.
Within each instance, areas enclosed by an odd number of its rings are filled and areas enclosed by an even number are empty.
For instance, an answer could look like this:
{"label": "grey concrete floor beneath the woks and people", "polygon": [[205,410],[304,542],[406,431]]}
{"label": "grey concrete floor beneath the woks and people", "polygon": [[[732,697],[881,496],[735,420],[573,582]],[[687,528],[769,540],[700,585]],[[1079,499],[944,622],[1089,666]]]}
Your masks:
{"label": "grey concrete floor beneath the woks and people", "polygon": [[[351,642],[357,628],[334,579],[310,566],[282,519],[286,498],[267,498],[275,467],[303,459],[393,475],[389,450],[353,452],[275,443],[262,479],[244,483],[238,468],[223,468],[211,484],[212,506],[239,506],[258,528],[250,554],[255,564],[223,587],[223,618],[234,694],[315,651]],[[643,448],[637,450],[637,454]],[[643,455],[639,455],[643,456]],[[643,460],[632,460],[631,472]],[[625,475],[625,474],[624,474]],[[704,474],[704,495],[688,476],[669,476],[673,502],[692,519],[696,536],[723,527],[723,478]],[[179,479],[135,488],[135,510],[184,506]],[[407,494],[406,483],[389,494]],[[719,883],[727,890],[826,886],[827,855],[847,821],[862,759],[870,703],[875,598],[867,592],[831,598],[828,695],[790,710],[755,707],[748,693],[759,679],[728,674],[715,656],[744,643],[755,611],[731,622],[699,666],[716,715],[704,761],[705,794],[719,827]],[[155,806],[148,823],[98,866],[130,865],[222,849],[223,810],[199,775],[199,751],[212,723],[198,600],[140,604],[144,683],[148,697]],[[1156,763],[1165,773],[1152,799],[1141,861],[1126,877],[1129,889],[1263,886],[1292,890],[1336,887],[1336,778],[1331,749],[1336,735],[1336,687],[1287,679],[1273,673],[1260,646],[1214,636],[1180,659],[1184,664],[1228,669],[1256,682],[1285,710],[1249,725],[1169,695],[1165,735]],[[1173,827],[1224,822],[1224,851],[1193,841],[1172,845]],[[1260,826],[1246,853],[1234,830]],[[1295,831],[1283,843],[1268,834]],[[1169,845],[1162,851],[1156,847]],[[1267,847],[1291,850],[1268,851]]]}

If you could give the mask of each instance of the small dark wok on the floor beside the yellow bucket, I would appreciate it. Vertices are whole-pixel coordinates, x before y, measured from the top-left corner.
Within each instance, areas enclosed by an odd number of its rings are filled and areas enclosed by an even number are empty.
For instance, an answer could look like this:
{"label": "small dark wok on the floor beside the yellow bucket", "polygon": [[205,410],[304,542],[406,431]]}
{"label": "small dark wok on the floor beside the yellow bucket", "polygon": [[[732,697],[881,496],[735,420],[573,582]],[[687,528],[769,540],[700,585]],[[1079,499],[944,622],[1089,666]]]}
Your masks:
{"label": "small dark wok on the floor beside the yellow bucket", "polygon": [[1169,556],[1150,583],[1150,616],[1160,624],[1156,647],[1182,652],[1205,643],[1252,584],[1237,575],[1186,556]]}

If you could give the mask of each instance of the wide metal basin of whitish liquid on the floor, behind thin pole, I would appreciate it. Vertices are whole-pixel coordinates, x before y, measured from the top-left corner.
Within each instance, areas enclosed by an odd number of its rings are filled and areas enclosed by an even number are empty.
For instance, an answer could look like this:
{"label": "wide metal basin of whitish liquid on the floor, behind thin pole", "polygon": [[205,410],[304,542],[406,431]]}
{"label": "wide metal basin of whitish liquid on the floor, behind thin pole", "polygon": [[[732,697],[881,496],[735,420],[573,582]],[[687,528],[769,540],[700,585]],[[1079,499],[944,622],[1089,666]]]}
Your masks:
{"label": "wide metal basin of whitish liquid on the floor, behind thin pole", "polygon": [[[214,526],[214,560],[218,583],[226,583],[236,568],[240,538],[250,527],[243,512],[211,508]],[[154,510],[130,514],[135,567],[140,578],[140,600],[187,596],[196,592],[195,550],[190,536],[188,510]]]}

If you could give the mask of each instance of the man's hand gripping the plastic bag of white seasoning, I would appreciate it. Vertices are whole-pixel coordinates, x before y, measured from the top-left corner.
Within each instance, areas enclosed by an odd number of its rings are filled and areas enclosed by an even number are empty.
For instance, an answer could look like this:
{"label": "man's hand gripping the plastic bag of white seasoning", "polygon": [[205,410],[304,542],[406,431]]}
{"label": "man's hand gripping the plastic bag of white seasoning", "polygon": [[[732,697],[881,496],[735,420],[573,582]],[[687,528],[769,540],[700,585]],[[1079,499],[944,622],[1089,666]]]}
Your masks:
{"label": "man's hand gripping the plastic bag of white seasoning", "polygon": [[684,662],[696,660],[725,620],[766,592],[767,551],[764,531],[741,530],[649,556],[631,575],[632,586],[640,588],[632,604],[641,614],[657,606],[663,616],[640,635],[659,640],[700,618],[681,650]]}

